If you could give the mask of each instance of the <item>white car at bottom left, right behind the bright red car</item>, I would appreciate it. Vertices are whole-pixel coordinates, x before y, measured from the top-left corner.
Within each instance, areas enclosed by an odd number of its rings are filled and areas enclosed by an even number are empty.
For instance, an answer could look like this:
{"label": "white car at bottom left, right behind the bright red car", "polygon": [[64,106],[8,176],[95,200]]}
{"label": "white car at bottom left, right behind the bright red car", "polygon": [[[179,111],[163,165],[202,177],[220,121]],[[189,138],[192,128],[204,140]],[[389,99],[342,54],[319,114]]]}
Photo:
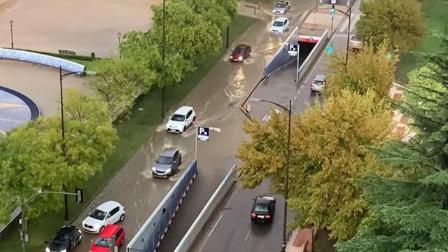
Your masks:
{"label": "white car at bottom left, right behind the bright red car", "polygon": [[125,207],[114,201],[100,204],[83,221],[83,230],[91,234],[101,233],[106,225],[118,223],[125,219]]}

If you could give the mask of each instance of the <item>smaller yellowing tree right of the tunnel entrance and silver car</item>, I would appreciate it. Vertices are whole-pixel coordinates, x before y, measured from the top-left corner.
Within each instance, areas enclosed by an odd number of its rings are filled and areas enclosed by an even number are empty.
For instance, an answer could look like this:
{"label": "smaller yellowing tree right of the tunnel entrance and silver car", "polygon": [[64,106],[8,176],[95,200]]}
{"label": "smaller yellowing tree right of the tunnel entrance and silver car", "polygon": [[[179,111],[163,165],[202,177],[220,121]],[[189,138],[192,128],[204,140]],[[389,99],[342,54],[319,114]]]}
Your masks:
{"label": "smaller yellowing tree right of the tunnel entrance and silver car", "polygon": [[349,52],[347,68],[345,54],[331,55],[330,76],[325,87],[325,95],[337,95],[344,89],[360,94],[374,90],[377,100],[387,98],[392,87],[398,57],[387,59],[386,53],[386,43],[379,45],[378,48],[365,45],[359,52]]}

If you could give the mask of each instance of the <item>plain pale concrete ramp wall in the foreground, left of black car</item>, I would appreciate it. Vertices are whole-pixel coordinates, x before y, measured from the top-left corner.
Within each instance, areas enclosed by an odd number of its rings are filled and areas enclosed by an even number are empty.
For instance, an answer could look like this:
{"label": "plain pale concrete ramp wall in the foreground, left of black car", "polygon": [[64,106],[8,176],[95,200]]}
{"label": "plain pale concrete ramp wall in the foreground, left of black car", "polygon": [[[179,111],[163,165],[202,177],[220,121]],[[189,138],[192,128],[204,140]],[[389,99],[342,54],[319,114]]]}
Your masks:
{"label": "plain pale concrete ramp wall in the foreground, left of black car", "polygon": [[211,195],[209,201],[205,204],[204,209],[202,209],[200,214],[197,216],[195,222],[193,222],[193,225],[191,225],[190,229],[188,229],[186,235],[182,238],[174,252],[186,252],[191,248],[191,246],[193,246],[197,235],[199,235],[218,205],[224,200],[230,189],[235,185],[236,167],[237,165],[233,165],[232,168],[230,168],[228,174],[225,175],[223,181],[221,181],[218,188],[216,188],[213,195]]}

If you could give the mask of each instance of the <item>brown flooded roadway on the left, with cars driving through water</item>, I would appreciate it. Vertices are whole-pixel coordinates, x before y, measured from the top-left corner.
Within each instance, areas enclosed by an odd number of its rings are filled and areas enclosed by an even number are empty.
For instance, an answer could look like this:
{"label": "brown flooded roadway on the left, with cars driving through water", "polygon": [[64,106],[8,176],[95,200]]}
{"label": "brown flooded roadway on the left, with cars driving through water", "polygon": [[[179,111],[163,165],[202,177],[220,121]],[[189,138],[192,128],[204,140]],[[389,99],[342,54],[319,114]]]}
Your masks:
{"label": "brown flooded roadway on the left, with cars driving through water", "polygon": [[[293,20],[298,17],[299,15],[296,15]],[[221,133],[212,132],[209,142],[198,142],[197,179],[191,186],[158,251],[174,251],[228,169],[236,162],[237,146],[246,137],[241,130],[241,123],[246,118],[239,111],[239,103],[261,78],[262,67],[292,30],[281,36],[269,34],[268,28],[272,18],[271,15],[263,15],[261,20],[255,22],[246,34],[230,46],[232,48],[237,43],[252,45],[251,58],[244,63],[230,63],[228,55],[225,55],[180,104],[195,108],[197,113],[195,126],[219,127]],[[181,150],[183,165],[180,167],[180,172],[167,180],[153,179],[151,175],[153,159],[162,151],[162,148],[168,146],[175,146]],[[75,223],[79,225],[92,207],[106,200],[117,200],[127,210],[127,217],[122,223],[129,234],[126,245],[151,215],[169,188],[179,179],[183,169],[193,160],[194,150],[194,127],[190,127],[183,134],[169,134],[165,132],[165,124],[160,125],[151,140],[137,151],[130,162],[80,214]],[[85,234],[83,243],[76,251],[87,251],[90,239],[93,237],[93,235]],[[120,248],[120,251],[124,251],[124,247]]]}

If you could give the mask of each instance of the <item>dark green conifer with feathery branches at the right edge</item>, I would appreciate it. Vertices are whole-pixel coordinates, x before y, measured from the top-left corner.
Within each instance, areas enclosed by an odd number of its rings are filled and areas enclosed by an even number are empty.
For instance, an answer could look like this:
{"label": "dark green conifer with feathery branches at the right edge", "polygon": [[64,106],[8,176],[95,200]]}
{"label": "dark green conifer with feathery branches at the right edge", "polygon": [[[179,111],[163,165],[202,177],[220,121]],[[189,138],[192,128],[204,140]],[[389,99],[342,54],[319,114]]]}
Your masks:
{"label": "dark green conifer with feathery branches at the right edge", "polygon": [[337,244],[338,251],[447,251],[448,36],[442,44],[441,52],[427,55],[425,68],[409,76],[415,81],[405,92],[409,97],[396,104],[418,134],[377,150],[395,176],[362,181],[369,216],[356,237]]}

